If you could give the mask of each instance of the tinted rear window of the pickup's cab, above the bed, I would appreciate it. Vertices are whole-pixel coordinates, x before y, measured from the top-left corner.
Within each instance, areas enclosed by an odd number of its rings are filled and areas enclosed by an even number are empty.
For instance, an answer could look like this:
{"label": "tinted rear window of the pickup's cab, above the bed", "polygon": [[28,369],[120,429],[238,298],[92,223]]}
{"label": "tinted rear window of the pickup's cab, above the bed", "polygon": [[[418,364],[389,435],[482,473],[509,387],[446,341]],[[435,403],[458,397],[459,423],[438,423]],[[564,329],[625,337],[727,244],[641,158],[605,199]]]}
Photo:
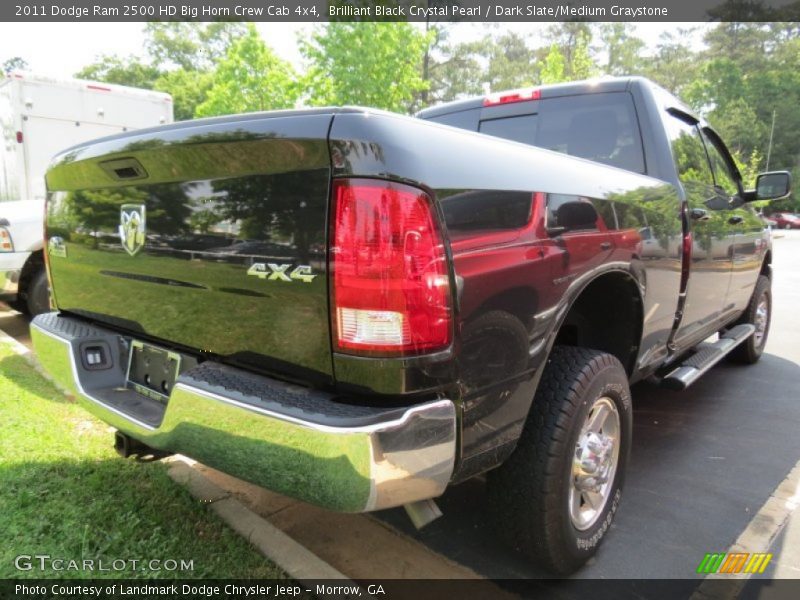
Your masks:
{"label": "tinted rear window of the pickup's cab, above the bed", "polygon": [[636,111],[626,92],[531,102],[531,113],[484,118],[478,130],[627,171],[645,172]]}

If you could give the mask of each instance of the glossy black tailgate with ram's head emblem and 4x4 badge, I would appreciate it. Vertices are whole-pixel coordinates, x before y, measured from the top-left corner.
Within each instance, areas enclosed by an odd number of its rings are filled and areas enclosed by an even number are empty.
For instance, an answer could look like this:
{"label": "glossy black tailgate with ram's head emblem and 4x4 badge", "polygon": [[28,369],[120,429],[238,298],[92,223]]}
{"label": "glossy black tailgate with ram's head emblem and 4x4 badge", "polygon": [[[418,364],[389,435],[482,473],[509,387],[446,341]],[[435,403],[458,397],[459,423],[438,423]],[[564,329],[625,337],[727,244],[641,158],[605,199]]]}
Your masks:
{"label": "glossy black tailgate with ram's head emblem and 4x4 badge", "polygon": [[331,111],[105,138],[48,175],[58,309],[228,362],[328,380]]}

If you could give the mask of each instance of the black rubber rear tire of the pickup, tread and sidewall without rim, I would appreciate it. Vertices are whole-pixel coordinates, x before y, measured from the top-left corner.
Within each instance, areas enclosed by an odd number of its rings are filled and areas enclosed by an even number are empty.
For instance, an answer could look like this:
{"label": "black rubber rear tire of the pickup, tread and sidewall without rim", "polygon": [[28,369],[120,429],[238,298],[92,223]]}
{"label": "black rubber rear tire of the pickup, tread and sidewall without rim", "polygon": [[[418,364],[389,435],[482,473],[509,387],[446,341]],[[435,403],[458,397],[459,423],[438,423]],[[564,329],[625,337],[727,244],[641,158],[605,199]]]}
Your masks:
{"label": "black rubber rear tire of the pickup, tread and sidewall without rim", "polygon": [[[569,504],[573,460],[584,423],[602,398],[613,402],[619,416],[619,455],[602,509],[581,530],[573,523]],[[619,505],[632,421],[628,377],[614,356],[587,348],[553,348],[514,453],[487,476],[492,518],[506,541],[559,575],[576,571],[591,558]]]}

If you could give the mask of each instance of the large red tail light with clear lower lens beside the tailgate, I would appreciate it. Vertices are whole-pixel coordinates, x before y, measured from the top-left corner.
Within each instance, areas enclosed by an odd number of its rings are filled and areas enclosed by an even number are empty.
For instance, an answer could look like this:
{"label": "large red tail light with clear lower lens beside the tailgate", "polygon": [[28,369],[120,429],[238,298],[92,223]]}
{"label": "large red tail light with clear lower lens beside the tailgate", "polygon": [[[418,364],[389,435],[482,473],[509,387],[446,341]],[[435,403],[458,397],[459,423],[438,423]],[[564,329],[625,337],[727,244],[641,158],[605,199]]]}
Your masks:
{"label": "large red tail light with clear lower lens beside the tailgate", "polygon": [[333,186],[334,348],[369,356],[441,350],[452,336],[450,279],[430,198],[388,181]]}

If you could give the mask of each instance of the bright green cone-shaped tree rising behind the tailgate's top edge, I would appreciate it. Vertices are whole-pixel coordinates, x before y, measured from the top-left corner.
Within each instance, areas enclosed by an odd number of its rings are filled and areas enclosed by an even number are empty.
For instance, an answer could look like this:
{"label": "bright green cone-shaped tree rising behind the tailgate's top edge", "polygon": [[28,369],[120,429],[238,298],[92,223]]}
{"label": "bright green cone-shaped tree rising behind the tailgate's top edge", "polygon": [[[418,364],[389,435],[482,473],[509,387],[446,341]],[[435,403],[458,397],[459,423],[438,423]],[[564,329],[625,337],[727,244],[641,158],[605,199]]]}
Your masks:
{"label": "bright green cone-shaped tree rising behind the tailgate's top edge", "polygon": [[213,84],[196,116],[292,108],[299,96],[291,65],[278,58],[255,25],[228,49],[214,71]]}

